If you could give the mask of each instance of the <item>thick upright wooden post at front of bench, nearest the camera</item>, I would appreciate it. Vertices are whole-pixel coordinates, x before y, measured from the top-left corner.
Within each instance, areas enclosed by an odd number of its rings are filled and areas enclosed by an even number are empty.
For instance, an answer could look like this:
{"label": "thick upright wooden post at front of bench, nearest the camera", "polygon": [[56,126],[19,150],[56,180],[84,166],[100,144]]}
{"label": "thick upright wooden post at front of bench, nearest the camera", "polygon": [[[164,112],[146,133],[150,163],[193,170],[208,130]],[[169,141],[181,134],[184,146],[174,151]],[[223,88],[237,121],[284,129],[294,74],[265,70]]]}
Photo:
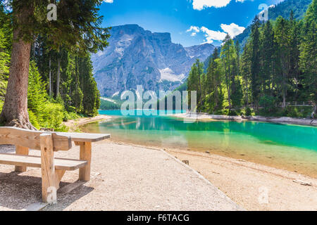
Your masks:
{"label": "thick upright wooden post at front of bench, nearest the camera", "polygon": [[[42,199],[44,203],[56,203],[57,182],[54,165],[53,137],[41,134]],[[58,183],[59,184],[59,183]]]}

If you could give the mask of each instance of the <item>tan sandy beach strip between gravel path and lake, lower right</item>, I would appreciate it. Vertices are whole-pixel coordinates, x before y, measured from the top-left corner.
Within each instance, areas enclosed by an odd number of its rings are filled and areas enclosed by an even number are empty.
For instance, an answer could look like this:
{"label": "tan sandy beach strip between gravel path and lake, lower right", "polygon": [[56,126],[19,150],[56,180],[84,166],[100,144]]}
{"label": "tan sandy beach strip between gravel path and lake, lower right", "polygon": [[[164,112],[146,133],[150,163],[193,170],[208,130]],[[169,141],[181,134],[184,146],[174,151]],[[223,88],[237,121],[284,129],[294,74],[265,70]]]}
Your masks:
{"label": "tan sandy beach strip between gravel path and lake, lower right", "polygon": [[246,210],[317,210],[317,179],[220,155],[167,152],[189,161],[190,167]]}

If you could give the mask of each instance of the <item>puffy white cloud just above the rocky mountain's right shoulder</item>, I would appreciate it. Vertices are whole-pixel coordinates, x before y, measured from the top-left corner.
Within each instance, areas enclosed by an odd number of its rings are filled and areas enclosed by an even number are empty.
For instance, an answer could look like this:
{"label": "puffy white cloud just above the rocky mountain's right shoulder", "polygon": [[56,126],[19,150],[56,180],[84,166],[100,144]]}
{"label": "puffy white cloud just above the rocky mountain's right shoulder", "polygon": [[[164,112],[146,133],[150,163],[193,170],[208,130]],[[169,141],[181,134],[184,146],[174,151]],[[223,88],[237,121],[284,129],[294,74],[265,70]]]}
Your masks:
{"label": "puffy white cloud just above the rocky mountain's right shoulder", "polygon": [[221,24],[220,25],[222,31],[216,31],[216,30],[209,30],[207,27],[196,27],[196,26],[191,26],[187,32],[192,32],[192,34],[190,36],[195,37],[197,35],[197,33],[199,32],[203,32],[204,36],[205,36],[205,42],[204,43],[213,43],[213,41],[223,41],[223,39],[225,39],[225,36],[227,34],[230,35],[230,37],[235,37],[238,34],[241,34],[245,28],[244,27],[240,27],[238,25],[236,25],[235,23],[231,23],[230,25],[226,25],[226,24]]}

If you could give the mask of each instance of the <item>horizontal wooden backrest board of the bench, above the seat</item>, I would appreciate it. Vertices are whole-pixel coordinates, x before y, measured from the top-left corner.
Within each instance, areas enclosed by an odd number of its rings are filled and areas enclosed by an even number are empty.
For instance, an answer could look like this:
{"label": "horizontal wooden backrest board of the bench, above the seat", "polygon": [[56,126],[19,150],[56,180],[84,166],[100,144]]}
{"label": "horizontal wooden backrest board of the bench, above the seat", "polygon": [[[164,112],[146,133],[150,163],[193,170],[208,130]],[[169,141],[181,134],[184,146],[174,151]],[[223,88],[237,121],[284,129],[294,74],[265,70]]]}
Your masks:
{"label": "horizontal wooden backrest board of the bench, above the seat", "polygon": [[[0,145],[23,146],[30,149],[41,150],[39,139],[41,134],[47,134],[47,132],[31,131],[16,127],[0,127]],[[51,134],[54,151],[69,150],[72,148],[70,136],[61,136],[54,132]]]}

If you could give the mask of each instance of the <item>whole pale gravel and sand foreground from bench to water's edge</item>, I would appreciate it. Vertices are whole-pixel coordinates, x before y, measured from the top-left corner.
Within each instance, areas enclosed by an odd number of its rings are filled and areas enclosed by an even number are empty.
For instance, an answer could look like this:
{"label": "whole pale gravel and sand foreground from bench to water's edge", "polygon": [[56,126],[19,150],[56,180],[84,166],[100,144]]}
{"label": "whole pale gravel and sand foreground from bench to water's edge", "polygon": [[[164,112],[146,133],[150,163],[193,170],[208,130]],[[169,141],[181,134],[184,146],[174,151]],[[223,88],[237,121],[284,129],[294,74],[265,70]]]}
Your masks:
{"label": "whole pale gravel and sand foreground from bench to water's edge", "polygon": [[[2,146],[0,151],[14,153],[9,146]],[[76,146],[57,154],[77,158],[79,153]],[[70,193],[58,193],[58,205],[44,210],[234,209],[234,205],[229,206],[230,200],[215,203],[218,188],[240,205],[240,210],[317,210],[317,179],[283,169],[220,155],[111,140],[95,143],[92,155],[92,181]],[[30,168],[22,174],[12,169],[0,165],[0,210],[23,210],[41,199],[40,169]],[[197,174],[211,184],[206,185]],[[77,172],[67,172],[61,186],[76,180]]]}

